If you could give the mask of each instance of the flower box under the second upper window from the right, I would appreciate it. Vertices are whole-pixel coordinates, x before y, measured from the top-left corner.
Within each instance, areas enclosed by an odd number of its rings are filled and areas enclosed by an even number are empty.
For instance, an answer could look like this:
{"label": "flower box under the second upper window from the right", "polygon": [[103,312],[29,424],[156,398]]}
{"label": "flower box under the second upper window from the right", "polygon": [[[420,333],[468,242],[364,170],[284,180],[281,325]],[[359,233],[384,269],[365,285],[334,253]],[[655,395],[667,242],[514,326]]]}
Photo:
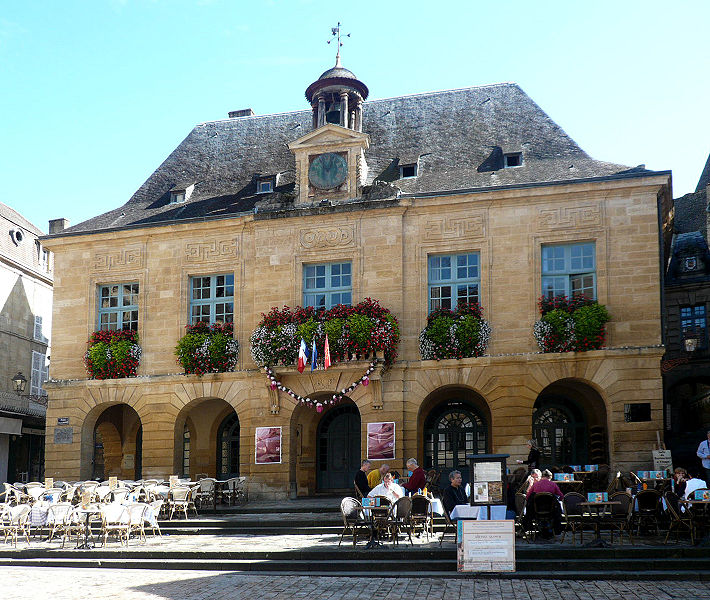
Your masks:
{"label": "flower box under the second upper window from the right", "polygon": [[419,352],[423,360],[471,358],[488,348],[491,327],[482,318],[477,302],[460,302],[456,311],[440,308],[427,317],[419,334]]}

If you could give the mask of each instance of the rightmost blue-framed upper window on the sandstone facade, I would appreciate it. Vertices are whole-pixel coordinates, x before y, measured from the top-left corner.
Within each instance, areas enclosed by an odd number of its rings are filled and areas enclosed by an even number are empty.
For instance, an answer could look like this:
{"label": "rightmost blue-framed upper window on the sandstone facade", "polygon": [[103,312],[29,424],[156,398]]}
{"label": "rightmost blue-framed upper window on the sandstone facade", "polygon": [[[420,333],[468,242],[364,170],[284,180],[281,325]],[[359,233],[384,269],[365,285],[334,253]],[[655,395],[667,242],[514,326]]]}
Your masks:
{"label": "rightmost blue-framed upper window on the sandstone facade", "polygon": [[594,242],[542,247],[542,293],[587,296],[596,299],[596,246]]}

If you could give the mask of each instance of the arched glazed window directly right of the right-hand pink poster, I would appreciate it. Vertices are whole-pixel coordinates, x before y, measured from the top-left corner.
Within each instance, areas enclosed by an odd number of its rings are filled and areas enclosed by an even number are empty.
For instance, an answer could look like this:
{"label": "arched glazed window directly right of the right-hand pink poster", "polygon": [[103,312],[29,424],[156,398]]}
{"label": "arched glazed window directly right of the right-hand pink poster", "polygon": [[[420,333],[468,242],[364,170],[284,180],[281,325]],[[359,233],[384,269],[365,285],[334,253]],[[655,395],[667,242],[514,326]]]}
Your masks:
{"label": "arched glazed window directly right of the right-hand pink poster", "polygon": [[424,468],[441,470],[442,481],[452,469],[465,470],[467,454],[485,454],[487,449],[486,423],[468,404],[448,402],[424,423]]}

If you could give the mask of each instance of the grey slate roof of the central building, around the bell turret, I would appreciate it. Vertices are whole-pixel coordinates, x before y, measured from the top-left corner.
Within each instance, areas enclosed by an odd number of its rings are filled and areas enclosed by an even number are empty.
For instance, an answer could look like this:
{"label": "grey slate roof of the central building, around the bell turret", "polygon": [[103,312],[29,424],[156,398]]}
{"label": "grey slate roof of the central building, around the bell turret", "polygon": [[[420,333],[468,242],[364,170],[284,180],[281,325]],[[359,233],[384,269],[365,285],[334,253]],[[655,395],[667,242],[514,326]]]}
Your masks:
{"label": "grey slate roof of the central building, around the bell turret", "polygon": [[[229,216],[254,207],[260,212],[289,210],[295,163],[287,144],[311,127],[310,109],[201,123],[124,206],[59,235]],[[590,158],[514,83],[368,101],[363,131],[371,138],[365,155],[367,183],[390,181],[403,194],[638,170]],[[504,169],[508,152],[522,152],[523,165]],[[418,176],[398,180],[401,157],[412,156],[419,156]],[[274,193],[257,195],[257,178],[275,174]],[[170,190],[185,182],[195,183],[190,199],[171,205]]]}

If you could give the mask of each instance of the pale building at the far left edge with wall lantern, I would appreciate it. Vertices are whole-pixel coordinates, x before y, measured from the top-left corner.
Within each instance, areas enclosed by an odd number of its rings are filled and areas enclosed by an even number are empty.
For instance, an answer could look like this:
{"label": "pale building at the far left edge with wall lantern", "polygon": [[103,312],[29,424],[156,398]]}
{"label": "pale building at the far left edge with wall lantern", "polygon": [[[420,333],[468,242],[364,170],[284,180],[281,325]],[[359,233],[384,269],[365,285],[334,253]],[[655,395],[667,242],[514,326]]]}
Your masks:
{"label": "pale building at the far left edge with wall lantern", "polygon": [[[0,483],[44,473],[53,259],[42,235],[0,203]],[[17,373],[26,379],[22,395],[12,384]]]}

